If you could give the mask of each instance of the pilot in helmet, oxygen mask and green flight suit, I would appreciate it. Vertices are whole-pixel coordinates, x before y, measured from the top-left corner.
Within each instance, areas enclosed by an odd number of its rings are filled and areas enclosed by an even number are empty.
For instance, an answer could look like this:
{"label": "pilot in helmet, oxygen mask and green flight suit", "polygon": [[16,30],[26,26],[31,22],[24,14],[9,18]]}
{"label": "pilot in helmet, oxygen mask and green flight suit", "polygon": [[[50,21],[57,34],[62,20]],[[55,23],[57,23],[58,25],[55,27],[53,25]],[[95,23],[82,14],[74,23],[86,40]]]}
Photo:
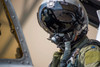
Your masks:
{"label": "pilot in helmet, oxygen mask and green flight suit", "polygon": [[39,25],[59,51],[49,67],[99,67],[100,43],[88,39],[88,16],[79,0],[50,0],[37,13]]}

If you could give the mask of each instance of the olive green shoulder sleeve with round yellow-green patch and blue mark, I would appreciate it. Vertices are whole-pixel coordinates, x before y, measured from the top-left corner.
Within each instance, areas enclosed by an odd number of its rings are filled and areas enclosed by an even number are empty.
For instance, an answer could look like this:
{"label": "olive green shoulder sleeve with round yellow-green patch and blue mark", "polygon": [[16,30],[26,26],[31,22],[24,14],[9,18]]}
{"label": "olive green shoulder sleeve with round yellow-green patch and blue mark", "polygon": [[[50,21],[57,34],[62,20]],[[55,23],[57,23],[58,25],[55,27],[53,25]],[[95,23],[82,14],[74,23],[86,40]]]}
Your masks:
{"label": "olive green shoulder sleeve with round yellow-green patch and blue mark", "polygon": [[97,67],[100,63],[100,47],[96,45],[83,47],[78,61],[80,63],[79,67]]}

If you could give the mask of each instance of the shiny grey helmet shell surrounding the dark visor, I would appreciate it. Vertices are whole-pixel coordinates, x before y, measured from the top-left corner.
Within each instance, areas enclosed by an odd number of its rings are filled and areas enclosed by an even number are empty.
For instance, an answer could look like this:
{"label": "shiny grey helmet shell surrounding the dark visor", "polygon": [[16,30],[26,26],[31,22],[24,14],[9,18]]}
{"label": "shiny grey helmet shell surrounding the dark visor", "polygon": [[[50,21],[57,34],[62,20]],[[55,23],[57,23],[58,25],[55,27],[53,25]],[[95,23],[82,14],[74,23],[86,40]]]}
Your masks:
{"label": "shiny grey helmet shell surrounding the dark visor", "polygon": [[[62,3],[64,2],[63,0],[53,0],[53,1],[48,1],[45,0],[41,6],[39,7],[38,13],[37,13],[37,18],[38,18],[38,23],[39,25],[49,34],[53,34],[55,32],[51,31],[50,29],[48,29],[48,27],[45,25],[45,23],[42,21],[42,11],[45,8],[50,8],[53,10],[65,10],[65,8],[62,8],[61,4],[59,4],[58,2]],[[58,3],[58,4],[57,4]],[[65,3],[71,4],[75,7],[78,8],[79,14],[81,14],[81,17],[84,18],[84,20],[82,21],[82,27],[81,30],[79,30],[79,34],[82,32],[82,30],[84,30],[86,27],[88,27],[88,16],[86,13],[86,10],[84,9],[83,5],[79,2],[79,0],[65,0]],[[67,7],[67,5],[65,5]],[[57,15],[57,14],[55,14]],[[51,23],[52,24],[52,23]]]}

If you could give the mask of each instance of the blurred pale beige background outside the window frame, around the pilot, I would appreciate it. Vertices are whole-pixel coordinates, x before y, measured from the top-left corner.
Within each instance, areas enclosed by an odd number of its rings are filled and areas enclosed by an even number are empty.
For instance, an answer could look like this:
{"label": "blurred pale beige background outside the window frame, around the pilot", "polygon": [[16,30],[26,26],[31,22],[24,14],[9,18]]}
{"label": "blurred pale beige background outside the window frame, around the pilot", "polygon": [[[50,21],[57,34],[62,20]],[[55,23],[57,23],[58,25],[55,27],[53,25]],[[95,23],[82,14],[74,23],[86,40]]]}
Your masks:
{"label": "blurred pale beige background outside the window frame, around the pilot", "polygon": [[[37,22],[37,12],[43,0],[11,0],[20,21],[34,67],[48,67],[55,44],[47,40],[47,34]],[[89,25],[87,36],[95,39],[97,29]]]}

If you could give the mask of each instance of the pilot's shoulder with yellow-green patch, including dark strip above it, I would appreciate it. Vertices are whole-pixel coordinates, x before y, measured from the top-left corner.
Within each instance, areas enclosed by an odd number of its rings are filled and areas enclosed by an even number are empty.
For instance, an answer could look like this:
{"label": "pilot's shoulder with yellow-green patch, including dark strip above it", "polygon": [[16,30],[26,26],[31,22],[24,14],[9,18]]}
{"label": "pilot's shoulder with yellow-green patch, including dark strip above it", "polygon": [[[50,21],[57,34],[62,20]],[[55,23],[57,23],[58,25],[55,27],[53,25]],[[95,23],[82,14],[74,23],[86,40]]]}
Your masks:
{"label": "pilot's shoulder with yellow-green patch, including dark strip above it", "polygon": [[88,45],[80,50],[79,61],[86,67],[88,65],[90,67],[90,65],[98,64],[100,62],[100,42],[90,40]]}

